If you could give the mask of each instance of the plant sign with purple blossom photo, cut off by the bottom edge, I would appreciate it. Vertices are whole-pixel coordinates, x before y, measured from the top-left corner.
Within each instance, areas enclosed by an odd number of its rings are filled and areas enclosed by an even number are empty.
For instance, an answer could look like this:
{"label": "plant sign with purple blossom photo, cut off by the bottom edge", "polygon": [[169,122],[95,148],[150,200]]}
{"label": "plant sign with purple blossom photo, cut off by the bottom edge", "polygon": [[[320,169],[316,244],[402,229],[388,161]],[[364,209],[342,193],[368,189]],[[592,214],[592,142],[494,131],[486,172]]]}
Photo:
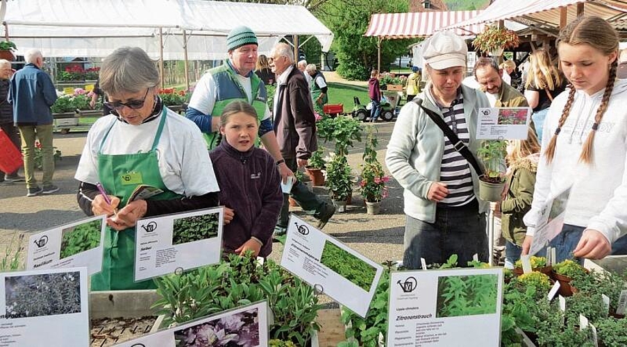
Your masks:
{"label": "plant sign with purple blossom photo, cut off by the bottom edge", "polygon": [[260,301],[115,346],[269,346],[268,312],[267,301]]}

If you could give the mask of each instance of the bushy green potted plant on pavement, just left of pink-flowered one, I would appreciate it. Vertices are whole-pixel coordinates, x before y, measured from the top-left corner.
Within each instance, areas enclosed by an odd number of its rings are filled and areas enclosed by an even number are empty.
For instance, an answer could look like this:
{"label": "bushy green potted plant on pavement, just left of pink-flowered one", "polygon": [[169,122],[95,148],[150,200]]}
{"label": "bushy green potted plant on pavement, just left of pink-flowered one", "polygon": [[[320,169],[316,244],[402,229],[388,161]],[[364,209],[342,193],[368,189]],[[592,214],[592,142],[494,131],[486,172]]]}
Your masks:
{"label": "bushy green potted plant on pavement, just left of pink-flowered one", "polygon": [[353,194],[353,171],[345,155],[331,153],[326,162],[326,182],[337,212],[346,212],[346,203]]}

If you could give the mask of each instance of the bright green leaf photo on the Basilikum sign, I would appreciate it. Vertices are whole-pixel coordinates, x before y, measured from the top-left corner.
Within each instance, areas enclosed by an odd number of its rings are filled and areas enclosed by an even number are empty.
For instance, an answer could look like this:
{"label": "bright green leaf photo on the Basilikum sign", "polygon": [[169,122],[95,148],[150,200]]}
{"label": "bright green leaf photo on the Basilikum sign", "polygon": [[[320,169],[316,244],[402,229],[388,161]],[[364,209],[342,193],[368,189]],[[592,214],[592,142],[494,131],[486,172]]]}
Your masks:
{"label": "bright green leaf photo on the Basilikum sign", "polygon": [[102,219],[61,230],[60,259],[100,246]]}

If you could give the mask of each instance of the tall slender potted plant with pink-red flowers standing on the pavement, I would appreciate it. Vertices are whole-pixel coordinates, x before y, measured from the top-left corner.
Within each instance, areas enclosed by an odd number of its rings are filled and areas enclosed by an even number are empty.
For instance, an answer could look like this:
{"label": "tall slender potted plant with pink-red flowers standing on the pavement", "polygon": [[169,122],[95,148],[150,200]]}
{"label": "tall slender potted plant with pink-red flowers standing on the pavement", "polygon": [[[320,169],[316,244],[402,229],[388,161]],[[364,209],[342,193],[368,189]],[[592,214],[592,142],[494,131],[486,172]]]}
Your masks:
{"label": "tall slender potted plant with pink-red flowers standing on the pavement", "polygon": [[360,192],[366,203],[368,214],[378,214],[381,210],[381,201],[387,196],[387,183],[390,178],[385,176],[383,166],[376,158],[377,138],[374,135],[374,127],[368,127],[368,139],[362,156],[361,181],[359,183]]}

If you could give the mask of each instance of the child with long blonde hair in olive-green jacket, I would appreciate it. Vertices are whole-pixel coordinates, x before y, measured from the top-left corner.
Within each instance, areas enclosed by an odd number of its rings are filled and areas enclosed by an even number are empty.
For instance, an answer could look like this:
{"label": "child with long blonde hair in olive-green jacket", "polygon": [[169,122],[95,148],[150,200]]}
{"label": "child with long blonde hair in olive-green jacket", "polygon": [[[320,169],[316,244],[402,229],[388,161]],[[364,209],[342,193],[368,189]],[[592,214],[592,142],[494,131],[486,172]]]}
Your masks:
{"label": "child with long blonde hair in olive-green jacket", "polygon": [[505,237],[505,268],[514,269],[520,259],[527,227],[524,215],[531,208],[535,172],[540,159],[540,144],[535,131],[528,129],[527,139],[508,142],[508,180],[503,201],[494,204],[494,213],[501,212],[501,232]]}

